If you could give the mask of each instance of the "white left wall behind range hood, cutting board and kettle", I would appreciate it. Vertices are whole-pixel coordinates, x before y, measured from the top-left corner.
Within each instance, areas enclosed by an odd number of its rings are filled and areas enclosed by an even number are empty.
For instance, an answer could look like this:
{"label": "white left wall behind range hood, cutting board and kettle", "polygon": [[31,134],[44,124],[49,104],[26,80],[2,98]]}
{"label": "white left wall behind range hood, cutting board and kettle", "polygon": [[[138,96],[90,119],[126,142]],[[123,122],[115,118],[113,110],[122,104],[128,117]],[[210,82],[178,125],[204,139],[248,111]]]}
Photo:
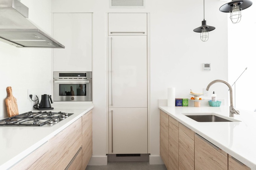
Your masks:
{"label": "white left wall behind range hood, cutting board and kettle", "polygon": [[[29,19],[51,33],[51,1],[21,0],[29,8]],[[12,87],[19,113],[32,110],[27,90],[41,97],[51,92],[51,49],[17,48],[0,42],[0,119],[8,117],[5,106],[6,88]]]}

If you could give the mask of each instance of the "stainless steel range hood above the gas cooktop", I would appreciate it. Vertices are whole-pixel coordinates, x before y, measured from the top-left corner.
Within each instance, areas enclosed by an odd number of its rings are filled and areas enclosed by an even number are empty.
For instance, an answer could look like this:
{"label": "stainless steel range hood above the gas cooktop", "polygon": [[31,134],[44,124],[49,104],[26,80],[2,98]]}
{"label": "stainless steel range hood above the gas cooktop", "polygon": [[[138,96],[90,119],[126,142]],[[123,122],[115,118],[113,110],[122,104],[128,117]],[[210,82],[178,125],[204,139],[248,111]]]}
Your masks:
{"label": "stainless steel range hood above the gas cooktop", "polygon": [[0,41],[16,47],[65,48],[29,19],[18,0],[0,0]]}

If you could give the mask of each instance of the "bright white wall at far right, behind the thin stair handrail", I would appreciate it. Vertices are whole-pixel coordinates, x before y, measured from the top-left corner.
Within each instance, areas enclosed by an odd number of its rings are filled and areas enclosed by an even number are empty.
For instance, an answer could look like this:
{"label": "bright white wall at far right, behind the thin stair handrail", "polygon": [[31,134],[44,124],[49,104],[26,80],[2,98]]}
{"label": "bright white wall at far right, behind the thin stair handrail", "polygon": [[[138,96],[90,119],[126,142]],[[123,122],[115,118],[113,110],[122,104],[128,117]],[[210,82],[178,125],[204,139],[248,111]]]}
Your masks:
{"label": "bright white wall at far right, behind the thin stair handrail", "polygon": [[[237,78],[247,70],[236,82],[236,108],[253,111],[256,109],[256,67],[255,67],[255,39],[256,18],[254,11],[256,4],[242,10],[241,21],[232,24],[228,20],[228,80],[232,85]],[[229,14],[228,14],[229,17]],[[234,91],[234,86],[233,86]],[[241,113],[243,114],[243,113]]]}

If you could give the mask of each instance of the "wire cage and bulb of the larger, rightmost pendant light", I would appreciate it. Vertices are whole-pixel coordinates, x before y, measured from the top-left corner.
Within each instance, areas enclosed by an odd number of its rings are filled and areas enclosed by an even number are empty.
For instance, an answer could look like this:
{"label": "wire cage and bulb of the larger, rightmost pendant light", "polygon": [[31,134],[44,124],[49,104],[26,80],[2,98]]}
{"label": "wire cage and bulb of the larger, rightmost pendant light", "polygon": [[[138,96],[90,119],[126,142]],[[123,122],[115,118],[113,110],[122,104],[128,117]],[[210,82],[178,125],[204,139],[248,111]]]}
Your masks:
{"label": "wire cage and bulb of the larger, rightmost pendant light", "polygon": [[242,11],[242,8],[241,8],[241,4],[242,2],[236,2],[236,3],[233,3],[233,4],[230,4],[230,20],[232,21],[233,24],[236,24],[236,23],[239,23],[241,21],[241,11]]}

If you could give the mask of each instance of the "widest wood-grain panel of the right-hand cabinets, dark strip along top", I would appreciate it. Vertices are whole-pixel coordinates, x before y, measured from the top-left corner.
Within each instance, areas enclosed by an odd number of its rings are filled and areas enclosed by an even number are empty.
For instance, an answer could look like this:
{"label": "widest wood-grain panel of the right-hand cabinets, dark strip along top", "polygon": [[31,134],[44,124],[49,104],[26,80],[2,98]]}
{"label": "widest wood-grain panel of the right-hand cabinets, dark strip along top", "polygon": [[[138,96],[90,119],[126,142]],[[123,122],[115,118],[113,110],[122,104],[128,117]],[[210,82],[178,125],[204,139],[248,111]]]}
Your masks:
{"label": "widest wood-grain panel of the right-hand cabinets, dark strip along top", "polygon": [[227,170],[227,153],[195,135],[195,170]]}

